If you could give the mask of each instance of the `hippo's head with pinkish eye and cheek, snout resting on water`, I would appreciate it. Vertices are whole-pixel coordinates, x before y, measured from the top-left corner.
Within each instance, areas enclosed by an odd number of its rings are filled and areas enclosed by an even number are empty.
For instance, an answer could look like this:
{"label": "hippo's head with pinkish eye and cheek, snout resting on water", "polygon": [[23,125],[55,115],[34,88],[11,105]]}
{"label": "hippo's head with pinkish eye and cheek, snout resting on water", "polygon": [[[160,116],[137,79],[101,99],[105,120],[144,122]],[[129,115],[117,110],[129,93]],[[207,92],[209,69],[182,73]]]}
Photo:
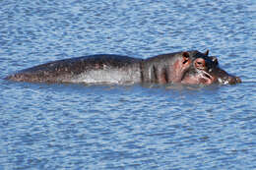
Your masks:
{"label": "hippo's head with pinkish eye and cheek, snout resting on water", "polygon": [[218,59],[208,56],[209,51],[200,53],[198,51],[188,52],[191,58],[190,67],[183,75],[181,84],[185,85],[234,85],[241,83],[240,78],[227,74],[219,67]]}

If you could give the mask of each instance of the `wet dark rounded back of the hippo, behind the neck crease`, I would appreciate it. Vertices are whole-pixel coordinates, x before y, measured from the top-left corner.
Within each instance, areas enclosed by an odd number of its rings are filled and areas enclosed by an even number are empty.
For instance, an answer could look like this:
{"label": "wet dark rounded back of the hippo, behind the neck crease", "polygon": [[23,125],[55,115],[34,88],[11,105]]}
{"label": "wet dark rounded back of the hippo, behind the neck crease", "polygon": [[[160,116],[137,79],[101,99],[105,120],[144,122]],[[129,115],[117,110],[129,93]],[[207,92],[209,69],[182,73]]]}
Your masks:
{"label": "wet dark rounded back of the hippo, behind the neck crease", "polygon": [[141,82],[141,59],[92,55],[22,70],[7,80],[30,83],[134,84]]}

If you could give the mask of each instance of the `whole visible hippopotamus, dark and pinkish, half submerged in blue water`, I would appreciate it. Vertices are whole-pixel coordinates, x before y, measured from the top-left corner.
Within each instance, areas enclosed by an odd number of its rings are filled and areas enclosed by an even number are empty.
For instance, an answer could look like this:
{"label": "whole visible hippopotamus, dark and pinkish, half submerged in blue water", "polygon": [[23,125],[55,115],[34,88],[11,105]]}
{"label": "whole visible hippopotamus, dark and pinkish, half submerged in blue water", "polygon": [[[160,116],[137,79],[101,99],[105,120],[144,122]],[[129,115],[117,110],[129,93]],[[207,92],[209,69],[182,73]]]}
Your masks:
{"label": "whole visible hippopotamus, dark and pinkish, half submerged in blue water", "polygon": [[161,54],[147,59],[97,54],[41,64],[8,76],[29,83],[233,85],[238,77],[220,68],[217,57],[197,50]]}

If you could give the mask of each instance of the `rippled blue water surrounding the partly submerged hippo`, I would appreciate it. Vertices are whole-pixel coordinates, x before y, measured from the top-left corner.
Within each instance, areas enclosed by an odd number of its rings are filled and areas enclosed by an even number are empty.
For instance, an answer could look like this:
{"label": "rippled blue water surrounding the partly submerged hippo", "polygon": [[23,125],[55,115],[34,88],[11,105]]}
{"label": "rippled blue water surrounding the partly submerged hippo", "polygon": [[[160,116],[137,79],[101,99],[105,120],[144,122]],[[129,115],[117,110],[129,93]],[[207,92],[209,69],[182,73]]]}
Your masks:
{"label": "rippled blue water surrounding the partly submerged hippo", "polygon": [[210,49],[239,85],[0,80],[0,169],[256,169],[254,0],[0,1],[0,78],[48,61]]}

